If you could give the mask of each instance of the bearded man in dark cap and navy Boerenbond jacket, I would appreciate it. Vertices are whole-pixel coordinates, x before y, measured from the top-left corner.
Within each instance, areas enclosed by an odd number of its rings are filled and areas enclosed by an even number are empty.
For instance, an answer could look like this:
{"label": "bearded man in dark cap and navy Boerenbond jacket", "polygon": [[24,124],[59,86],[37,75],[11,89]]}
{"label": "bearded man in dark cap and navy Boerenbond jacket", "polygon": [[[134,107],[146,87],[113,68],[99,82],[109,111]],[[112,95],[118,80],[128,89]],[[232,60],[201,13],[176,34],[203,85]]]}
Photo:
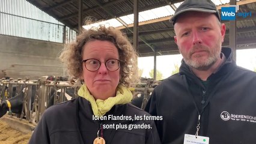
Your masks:
{"label": "bearded man in dark cap and navy Boerenbond jacket", "polygon": [[147,107],[162,143],[256,143],[256,73],[222,47],[225,25],[210,0],[186,0],[170,22],[183,60]]}

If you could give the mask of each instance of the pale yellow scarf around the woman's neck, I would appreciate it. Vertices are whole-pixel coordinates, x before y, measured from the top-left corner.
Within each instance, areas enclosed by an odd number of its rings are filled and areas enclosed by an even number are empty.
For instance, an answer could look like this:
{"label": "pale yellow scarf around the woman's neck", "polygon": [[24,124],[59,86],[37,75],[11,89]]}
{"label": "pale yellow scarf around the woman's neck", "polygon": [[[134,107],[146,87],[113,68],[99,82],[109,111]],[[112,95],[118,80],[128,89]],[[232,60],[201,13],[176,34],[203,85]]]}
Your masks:
{"label": "pale yellow scarf around the woman's neck", "polygon": [[87,86],[84,84],[78,90],[78,95],[90,101],[91,108],[93,109],[93,114],[95,116],[103,116],[111,110],[115,104],[126,104],[132,100],[132,92],[124,86],[117,86],[117,94],[115,97],[109,97],[106,100],[95,100],[93,95],[90,94],[90,91],[87,89]]}

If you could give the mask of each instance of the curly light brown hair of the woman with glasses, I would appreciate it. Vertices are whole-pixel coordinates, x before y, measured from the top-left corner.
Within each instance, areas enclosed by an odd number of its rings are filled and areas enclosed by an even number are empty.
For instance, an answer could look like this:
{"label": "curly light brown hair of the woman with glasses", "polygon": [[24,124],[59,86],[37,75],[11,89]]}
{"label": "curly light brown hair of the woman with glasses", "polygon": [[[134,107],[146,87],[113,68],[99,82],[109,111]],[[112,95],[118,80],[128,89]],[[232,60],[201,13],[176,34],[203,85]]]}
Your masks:
{"label": "curly light brown hair of the woman with glasses", "polygon": [[130,44],[127,36],[114,27],[100,25],[91,29],[83,29],[76,37],[76,41],[68,44],[62,50],[59,59],[67,68],[67,72],[72,79],[80,80],[82,76],[82,52],[86,43],[92,40],[110,41],[118,49],[120,58],[120,84],[130,86],[132,82],[138,80],[138,54]]}

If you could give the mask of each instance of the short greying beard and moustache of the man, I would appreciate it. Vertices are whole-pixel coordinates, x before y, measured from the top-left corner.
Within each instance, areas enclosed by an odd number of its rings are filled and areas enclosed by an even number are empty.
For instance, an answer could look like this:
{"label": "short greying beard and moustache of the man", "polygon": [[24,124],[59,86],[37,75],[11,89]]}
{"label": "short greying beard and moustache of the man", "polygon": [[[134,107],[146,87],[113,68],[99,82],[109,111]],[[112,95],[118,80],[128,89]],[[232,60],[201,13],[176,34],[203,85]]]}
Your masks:
{"label": "short greying beard and moustache of the man", "polygon": [[[201,55],[200,53],[194,54],[194,58],[197,57],[196,59],[192,59],[192,54],[194,52],[197,52],[197,50],[202,50],[205,51],[209,54],[209,57],[207,59],[202,59],[200,58]],[[220,58],[221,55],[221,44],[216,44],[215,47],[212,49],[206,46],[202,45],[195,45],[192,47],[192,50],[189,52],[188,56],[183,56],[184,62],[189,65],[192,68],[195,68],[197,70],[209,70],[210,67],[212,67],[213,64]]]}

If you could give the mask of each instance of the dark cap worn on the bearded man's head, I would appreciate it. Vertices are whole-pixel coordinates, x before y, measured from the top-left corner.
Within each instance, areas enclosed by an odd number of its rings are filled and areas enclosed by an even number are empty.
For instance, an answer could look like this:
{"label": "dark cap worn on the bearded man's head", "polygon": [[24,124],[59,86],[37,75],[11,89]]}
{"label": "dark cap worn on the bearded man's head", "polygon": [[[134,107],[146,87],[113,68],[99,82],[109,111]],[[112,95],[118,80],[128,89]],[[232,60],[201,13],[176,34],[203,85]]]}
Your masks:
{"label": "dark cap worn on the bearded man's head", "polygon": [[186,11],[200,11],[204,13],[215,13],[221,22],[221,18],[219,16],[219,10],[216,5],[211,0],[185,0],[175,11],[174,15],[171,17],[169,22],[172,25],[175,24],[178,15],[184,13]]}

